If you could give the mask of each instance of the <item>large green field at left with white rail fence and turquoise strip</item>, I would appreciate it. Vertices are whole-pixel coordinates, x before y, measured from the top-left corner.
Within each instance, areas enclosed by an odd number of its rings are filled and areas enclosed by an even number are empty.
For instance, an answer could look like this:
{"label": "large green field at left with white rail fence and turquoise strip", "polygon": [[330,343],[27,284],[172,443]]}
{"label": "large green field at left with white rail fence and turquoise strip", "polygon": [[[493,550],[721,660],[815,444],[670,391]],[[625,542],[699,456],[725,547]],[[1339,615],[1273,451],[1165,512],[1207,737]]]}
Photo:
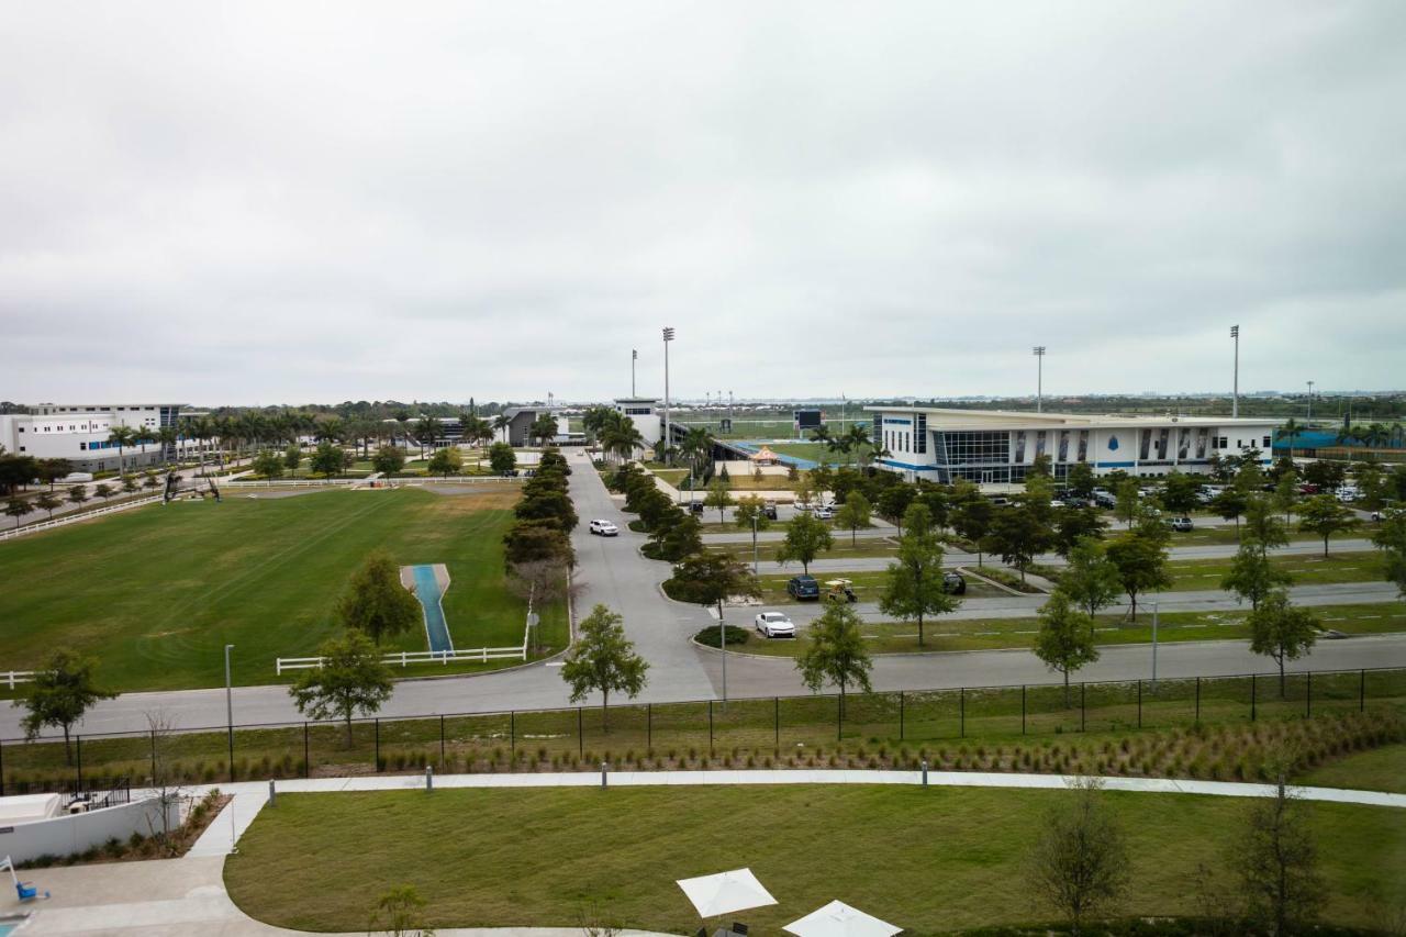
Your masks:
{"label": "large green field at left with white rail fence and turquoise strip", "polygon": [[[0,670],[38,667],[63,644],[96,656],[112,689],[215,687],[231,643],[235,682],[274,682],[276,657],[314,654],[340,630],[337,597],[375,549],[449,567],[457,647],[519,644],[526,604],[505,588],[502,559],[516,498],[506,485],[238,492],[0,543]],[[543,612],[544,633],[565,619]],[[427,650],[423,625],[387,647]]]}

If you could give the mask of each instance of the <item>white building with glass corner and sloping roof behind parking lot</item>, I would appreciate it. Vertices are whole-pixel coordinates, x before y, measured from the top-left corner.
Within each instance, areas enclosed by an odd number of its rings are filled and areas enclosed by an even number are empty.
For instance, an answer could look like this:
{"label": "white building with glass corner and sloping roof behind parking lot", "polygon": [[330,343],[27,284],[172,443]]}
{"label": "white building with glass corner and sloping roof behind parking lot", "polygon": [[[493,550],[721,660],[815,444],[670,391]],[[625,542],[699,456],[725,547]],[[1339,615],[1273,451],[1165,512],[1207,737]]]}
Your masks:
{"label": "white building with glass corner and sloping roof behind parking lot", "polygon": [[866,407],[873,439],[889,452],[876,466],[908,480],[943,484],[1025,481],[1038,456],[1049,456],[1056,478],[1088,463],[1095,474],[1130,476],[1209,471],[1213,456],[1257,450],[1270,463],[1275,421],[1230,416],[1091,416],[936,407]]}

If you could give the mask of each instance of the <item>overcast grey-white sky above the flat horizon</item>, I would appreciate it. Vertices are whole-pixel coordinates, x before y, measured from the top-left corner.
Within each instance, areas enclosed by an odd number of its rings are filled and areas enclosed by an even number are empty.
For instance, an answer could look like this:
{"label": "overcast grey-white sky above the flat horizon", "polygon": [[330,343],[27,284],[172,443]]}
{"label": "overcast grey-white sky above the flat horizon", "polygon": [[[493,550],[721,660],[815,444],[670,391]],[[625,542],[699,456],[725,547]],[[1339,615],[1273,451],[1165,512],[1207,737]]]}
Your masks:
{"label": "overcast grey-white sky above the flat horizon", "polygon": [[1399,0],[10,3],[0,400],[1399,388],[1403,103]]}

